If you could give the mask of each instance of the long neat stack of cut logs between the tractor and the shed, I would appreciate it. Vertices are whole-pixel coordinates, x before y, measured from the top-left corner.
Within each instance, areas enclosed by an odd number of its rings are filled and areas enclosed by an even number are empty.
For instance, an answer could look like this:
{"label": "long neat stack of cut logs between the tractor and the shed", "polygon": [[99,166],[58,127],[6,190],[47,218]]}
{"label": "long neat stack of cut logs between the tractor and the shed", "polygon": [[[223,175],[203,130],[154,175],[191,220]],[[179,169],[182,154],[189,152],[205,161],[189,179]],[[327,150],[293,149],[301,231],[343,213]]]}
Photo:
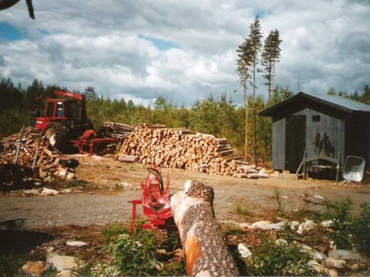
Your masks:
{"label": "long neat stack of cut logs between the tractor and the shed", "polygon": [[120,143],[117,157],[137,156],[140,163],[156,163],[165,168],[186,168],[213,175],[239,178],[262,176],[242,161],[226,139],[165,125],[137,125],[131,136]]}

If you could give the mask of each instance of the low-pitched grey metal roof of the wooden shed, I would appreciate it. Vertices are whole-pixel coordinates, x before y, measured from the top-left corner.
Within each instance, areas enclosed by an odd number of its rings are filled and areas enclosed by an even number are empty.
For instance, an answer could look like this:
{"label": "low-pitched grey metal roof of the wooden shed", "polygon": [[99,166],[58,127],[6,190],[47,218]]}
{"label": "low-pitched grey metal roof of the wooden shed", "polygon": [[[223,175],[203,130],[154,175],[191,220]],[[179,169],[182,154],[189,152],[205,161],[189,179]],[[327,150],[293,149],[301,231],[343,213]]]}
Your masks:
{"label": "low-pitched grey metal roof of the wooden shed", "polygon": [[275,111],[285,109],[285,105],[288,105],[290,102],[294,102],[299,98],[306,98],[315,102],[320,102],[323,105],[328,105],[335,109],[341,109],[342,111],[348,113],[352,113],[353,111],[370,112],[370,105],[349,98],[345,98],[343,96],[333,96],[329,94],[319,94],[319,93],[305,93],[301,91],[295,96],[287,98],[282,102],[278,102],[278,104],[274,106],[271,106],[267,109],[264,109],[263,111],[260,111],[258,114],[260,116],[273,116],[273,114],[275,114]]}

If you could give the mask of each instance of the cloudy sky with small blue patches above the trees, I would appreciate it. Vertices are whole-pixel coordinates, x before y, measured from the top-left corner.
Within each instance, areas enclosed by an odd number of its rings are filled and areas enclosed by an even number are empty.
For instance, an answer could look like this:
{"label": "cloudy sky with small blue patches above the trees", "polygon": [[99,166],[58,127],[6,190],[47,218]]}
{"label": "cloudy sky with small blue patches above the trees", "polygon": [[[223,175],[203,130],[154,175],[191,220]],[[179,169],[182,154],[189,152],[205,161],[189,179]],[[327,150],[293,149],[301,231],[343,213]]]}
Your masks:
{"label": "cloudy sky with small blue patches above the trees", "polygon": [[[276,83],[326,93],[370,85],[370,1],[33,0],[0,11],[0,77],[35,78],[149,105],[227,91],[241,102],[236,48],[258,15],[283,42]],[[257,93],[267,96],[258,78]],[[236,92],[233,92],[238,90]]]}

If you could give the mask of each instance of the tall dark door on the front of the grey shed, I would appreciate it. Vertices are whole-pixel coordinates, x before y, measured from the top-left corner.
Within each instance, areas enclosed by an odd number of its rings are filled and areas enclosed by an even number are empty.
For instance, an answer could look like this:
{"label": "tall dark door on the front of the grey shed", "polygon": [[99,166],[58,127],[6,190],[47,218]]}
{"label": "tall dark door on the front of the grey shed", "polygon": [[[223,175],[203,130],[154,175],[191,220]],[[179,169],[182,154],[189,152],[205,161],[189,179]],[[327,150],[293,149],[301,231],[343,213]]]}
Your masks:
{"label": "tall dark door on the front of the grey shed", "polygon": [[288,116],[285,123],[285,170],[295,173],[305,152],[305,116]]}

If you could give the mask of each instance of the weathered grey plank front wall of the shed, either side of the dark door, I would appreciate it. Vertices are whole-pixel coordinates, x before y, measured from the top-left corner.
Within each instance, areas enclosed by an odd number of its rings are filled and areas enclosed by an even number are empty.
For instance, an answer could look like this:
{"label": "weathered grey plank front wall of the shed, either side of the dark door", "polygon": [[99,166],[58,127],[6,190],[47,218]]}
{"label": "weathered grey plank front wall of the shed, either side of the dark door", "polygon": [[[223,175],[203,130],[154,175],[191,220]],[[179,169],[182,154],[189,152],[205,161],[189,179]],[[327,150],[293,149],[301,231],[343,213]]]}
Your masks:
{"label": "weathered grey plank front wall of the shed, either side of the dark door", "polygon": [[[344,162],[345,154],[345,121],[343,119],[335,118],[314,109],[305,108],[298,111],[294,116],[306,116],[306,132],[305,145],[308,157],[314,156],[319,152],[312,142],[317,133],[326,133],[329,140],[334,146],[334,157],[337,158],[339,151],[342,153],[342,163]],[[319,115],[320,121],[312,121],[312,116]],[[272,162],[274,169],[285,170],[285,118],[273,118],[273,132],[272,132]]]}

